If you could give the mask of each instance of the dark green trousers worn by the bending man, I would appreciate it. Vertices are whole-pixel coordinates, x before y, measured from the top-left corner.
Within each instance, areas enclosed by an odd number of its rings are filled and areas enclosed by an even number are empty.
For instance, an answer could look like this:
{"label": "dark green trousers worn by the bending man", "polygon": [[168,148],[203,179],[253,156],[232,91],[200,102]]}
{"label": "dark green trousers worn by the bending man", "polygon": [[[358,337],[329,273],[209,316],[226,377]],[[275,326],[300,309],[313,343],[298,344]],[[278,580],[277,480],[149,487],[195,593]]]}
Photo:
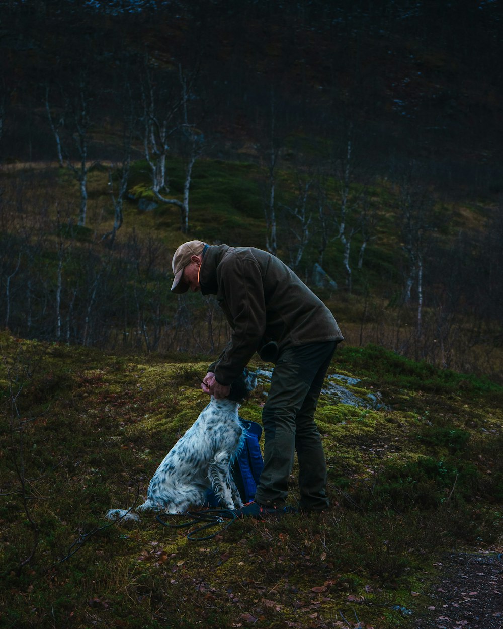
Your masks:
{"label": "dark green trousers worn by the bending man", "polygon": [[326,463],[314,411],[335,341],[290,347],[280,353],[262,411],[264,467],[255,494],[262,504],[282,504],[297,451],[302,509],[323,509]]}

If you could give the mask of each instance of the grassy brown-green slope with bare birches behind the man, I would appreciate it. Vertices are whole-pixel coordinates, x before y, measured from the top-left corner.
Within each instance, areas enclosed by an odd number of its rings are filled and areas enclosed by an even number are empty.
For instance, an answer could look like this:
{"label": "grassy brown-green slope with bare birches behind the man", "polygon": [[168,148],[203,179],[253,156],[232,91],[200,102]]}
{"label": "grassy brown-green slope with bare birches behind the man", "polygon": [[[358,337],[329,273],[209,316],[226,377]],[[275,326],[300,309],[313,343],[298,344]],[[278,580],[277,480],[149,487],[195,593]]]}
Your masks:
{"label": "grassy brown-green slope with bare birches behind the man", "polygon": [[[107,171],[104,165],[89,171],[88,220],[79,226],[78,182],[67,169],[4,167],[0,320],[18,337],[125,352],[218,352],[228,337],[223,316],[213,299],[170,296],[171,257],[187,238],[265,248],[267,170],[250,162],[199,159],[185,236],[179,208],[153,196],[146,162],[138,160],[131,164],[124,225],[113,243],[103,240],[114,216]],[[168,171],[170,194],[180,199],[183,161],[171,157]],[[338,220],[339,182],[302,177],[291,169],[277,171],[277,253],[296,264],[299,276],[332,309],[346,343],[377,343],[416,360],[500,381],[499,207],[445,203],[430,192],[428,205],[410,204],[423,198],[418,195],[424,189],[409,188],[406,198],[401,187],[387,181],[351,184],[349,199],[355,209],[349,216],[355,234],[348,285],[345,248],[329,222]],[[306,181],[312,194],[301,241],[302,214],[292,208],[299,201],[299,182],[302,186]],[[316,204],[321,192],[328,199],[323,216]],[[145,209],[148,204],[153,209]],[[365,223],[358,222],[358,208],[374,221],[364,255]],[[404,220],[409,221],[407,230]],[[323,267],[337,288],[316,284],[324,225],[328,240]],[[423,240],[416,238],[417,230]],[[421,284],[412,265],[416,251],[423,256]]]}

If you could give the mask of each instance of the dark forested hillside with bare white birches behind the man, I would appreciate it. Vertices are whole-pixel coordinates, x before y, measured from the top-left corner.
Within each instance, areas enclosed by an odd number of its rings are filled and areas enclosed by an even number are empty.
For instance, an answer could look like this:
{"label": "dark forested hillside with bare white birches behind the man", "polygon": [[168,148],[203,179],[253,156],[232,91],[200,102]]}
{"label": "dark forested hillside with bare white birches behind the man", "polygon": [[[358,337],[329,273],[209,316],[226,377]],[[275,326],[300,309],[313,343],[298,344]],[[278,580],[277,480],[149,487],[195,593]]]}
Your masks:
{"label": "dark forested hillside with bare white birches behind the man", "polygon": [[353,345],[499,379],[498,2],[25,1],[1,18],[15,335],[213,353],[214,302],[166,281],[201,238],[280,255]]}

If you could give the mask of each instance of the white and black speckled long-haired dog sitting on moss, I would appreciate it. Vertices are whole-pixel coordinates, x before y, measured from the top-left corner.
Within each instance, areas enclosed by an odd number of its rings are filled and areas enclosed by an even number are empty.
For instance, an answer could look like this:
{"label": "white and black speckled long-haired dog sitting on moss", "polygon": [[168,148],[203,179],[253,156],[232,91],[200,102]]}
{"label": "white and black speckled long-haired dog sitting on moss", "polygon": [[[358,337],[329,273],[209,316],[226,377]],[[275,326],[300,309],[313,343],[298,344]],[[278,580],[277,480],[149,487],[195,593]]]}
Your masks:
{"label": "white and black speckled long-haired dog sitting on moss", "polygon": [[[213,489],[223,508],[243,506],[231,464],[245,439],[238,408],[256,384],[255,374],[245,370],[243,377],[233,382],[228,398],[211,396],[209,404],[157,468],[139,510],[185,513],[205,503],[208,489]],[[126,509],[110,509],[106,518],[139,520]]]}

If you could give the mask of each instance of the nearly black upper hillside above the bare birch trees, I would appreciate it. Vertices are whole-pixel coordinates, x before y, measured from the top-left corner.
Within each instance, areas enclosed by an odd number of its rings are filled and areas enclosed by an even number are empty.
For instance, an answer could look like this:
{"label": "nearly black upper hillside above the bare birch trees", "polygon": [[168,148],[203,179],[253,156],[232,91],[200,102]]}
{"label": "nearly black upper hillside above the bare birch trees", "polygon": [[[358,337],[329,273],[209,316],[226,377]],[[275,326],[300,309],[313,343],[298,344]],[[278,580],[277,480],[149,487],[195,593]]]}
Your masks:
{"label": "nearly black upper hillside above the bare birch trees", "polygon": [[[258,157],[274,93],[285,139],[341,140],[352,125],[365,170],[393,176],[415,159],[426,181],[451,192],[500,190],[498,2],[28,0],[0,10],[4,157],[53,159],[44,86],[68,91],[82,72],[100,140],[117,123],[121,75],[138,88],[148,51],[172,79],[178,64],[200,64],[214,154]],[[102,159],[113,154],[109,140],[94,149]]]}

